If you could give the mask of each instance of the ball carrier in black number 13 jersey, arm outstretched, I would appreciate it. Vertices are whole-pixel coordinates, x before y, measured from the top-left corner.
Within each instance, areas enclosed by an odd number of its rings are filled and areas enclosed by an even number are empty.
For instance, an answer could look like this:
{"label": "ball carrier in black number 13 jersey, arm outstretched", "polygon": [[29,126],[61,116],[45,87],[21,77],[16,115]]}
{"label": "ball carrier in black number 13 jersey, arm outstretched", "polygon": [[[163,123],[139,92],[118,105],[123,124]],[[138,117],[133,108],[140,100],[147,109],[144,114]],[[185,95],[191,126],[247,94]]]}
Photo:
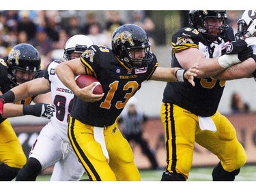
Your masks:
{"label": "ball carrier in black number 13 jersey, arm outstretched", "polygon": [[[89,179],[140,180],[132,149],[119,131],[117,117],[143,81],[177,82],[186,78],[193,84],[197,72],[197,65],[188,71],[158,67],[147,34],[135,24],[124,24],[114,31],[112,50],[90,46],[80,60],[58,65],[55,73],[75,94],[68,137]],[[96,82],[85,88],[76,85],[74,76],[84,73],[96,77],[103,94],[92,94]]]}

